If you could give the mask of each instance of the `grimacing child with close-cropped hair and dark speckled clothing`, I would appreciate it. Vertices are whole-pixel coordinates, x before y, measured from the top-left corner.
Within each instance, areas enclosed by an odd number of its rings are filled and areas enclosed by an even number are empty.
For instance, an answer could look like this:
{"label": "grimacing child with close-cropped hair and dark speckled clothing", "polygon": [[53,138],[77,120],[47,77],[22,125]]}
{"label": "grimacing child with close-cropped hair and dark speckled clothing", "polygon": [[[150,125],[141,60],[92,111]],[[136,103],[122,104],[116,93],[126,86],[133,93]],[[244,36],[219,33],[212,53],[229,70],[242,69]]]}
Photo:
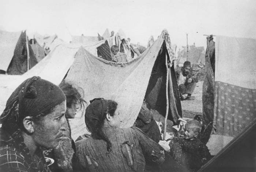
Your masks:
{"label": "grimacing child with close-cropped hair and dark speckled clothing", "polygon": [[195,119],[185,125],[184,137],[175,137],[170,143],[170,156],[186,171],[197,171],[211,158],[206,145],[200,141],[201,123]]}

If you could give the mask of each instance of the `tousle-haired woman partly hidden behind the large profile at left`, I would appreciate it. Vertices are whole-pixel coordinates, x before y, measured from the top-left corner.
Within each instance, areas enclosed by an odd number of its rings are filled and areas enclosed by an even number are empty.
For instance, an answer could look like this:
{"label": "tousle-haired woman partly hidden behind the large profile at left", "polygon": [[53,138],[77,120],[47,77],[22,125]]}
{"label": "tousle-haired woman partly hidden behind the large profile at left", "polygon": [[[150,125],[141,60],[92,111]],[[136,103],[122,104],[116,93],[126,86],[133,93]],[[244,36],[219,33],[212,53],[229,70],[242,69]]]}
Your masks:
{"label": "tousle-haired woman partly hidden behind the large profile at left", "polygon": [[68,119],[75,118],[76,112],[86,105],[79,91],[73,85],[65,82],[60,84],[60,88],[64,92],[67,99],[66,119],[68,126],[59,145],[48,151],[45,151],[47,157],[53,158],[54,163],[50,165],[51,171],[71,172],[75,164],[75,143],[71,138],[71,130]]}

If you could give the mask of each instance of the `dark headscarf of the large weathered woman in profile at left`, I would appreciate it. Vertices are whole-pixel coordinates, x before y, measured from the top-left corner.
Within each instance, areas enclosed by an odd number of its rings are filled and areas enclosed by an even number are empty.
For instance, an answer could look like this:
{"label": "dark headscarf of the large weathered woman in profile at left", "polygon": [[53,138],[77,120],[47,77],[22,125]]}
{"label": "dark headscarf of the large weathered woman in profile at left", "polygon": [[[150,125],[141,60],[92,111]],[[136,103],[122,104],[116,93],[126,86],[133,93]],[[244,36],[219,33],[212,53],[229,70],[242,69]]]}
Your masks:
{"label": "dark headscarf of the large weathered woman in profile at left", "polygon": [[[47,112],[66,99],[61,89],[38,76],[26,79],[7,100],[5,109],[0,116],[3,126],[10,134],[20,129],[20,124],[26,116],[38,116]],[[46,114],[45,114],[46,115]]]}

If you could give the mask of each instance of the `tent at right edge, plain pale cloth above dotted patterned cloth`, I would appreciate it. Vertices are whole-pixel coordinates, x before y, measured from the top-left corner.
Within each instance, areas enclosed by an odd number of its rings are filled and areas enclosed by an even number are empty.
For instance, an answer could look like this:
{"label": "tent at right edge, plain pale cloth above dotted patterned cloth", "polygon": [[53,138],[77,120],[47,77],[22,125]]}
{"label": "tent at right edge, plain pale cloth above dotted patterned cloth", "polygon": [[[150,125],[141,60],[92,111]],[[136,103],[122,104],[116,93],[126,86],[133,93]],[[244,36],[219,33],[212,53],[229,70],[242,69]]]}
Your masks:
{"label": "tent at right edge, plain pale cloth above dotted patterned cloth", "polygon": [[207,76],[203,85],[203,118],[208,125],[203,135],[205,142],[212,124],[215,134],[237,137],[256,117],[256,39],[217,36],[215,44],[212,37],[207,40]]}

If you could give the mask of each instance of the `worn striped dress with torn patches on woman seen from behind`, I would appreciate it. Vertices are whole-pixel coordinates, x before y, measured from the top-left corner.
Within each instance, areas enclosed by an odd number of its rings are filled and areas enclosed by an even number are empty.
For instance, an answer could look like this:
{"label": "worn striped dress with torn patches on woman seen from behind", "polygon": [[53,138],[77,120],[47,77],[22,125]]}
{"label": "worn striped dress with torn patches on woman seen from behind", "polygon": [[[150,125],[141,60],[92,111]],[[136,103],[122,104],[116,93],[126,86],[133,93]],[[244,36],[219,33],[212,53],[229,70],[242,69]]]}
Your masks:
{"label": "worn striped dress with torn patches on woman seen from behind", "polygon": [[108,127],[104,132],[112,143],[111,152],[102,139],[76,142],[76,156],[83,171],[143,172],[145,159],[157,164],[164,161],[161,146],[139,129]]}

